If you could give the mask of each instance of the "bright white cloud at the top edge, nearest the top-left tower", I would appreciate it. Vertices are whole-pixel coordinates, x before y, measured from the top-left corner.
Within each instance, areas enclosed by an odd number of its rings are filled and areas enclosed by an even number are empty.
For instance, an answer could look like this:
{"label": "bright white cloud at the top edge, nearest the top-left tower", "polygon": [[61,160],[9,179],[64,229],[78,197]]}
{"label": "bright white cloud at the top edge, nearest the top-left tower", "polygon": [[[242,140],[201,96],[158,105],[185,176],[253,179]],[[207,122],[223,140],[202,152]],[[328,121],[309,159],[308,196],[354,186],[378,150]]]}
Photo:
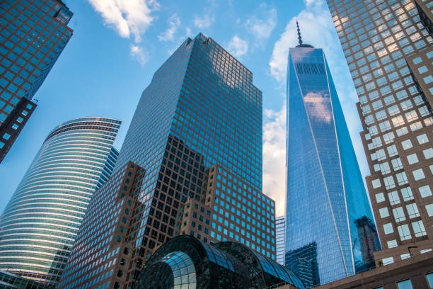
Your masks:
{"label": "bright white cloud at the top edge, nearest the top-left tower", "polygon": [[149,28],[154,17],[151,12],[159,7],[156,1],[145,0],[88,0],[108,26],[124,38],[134,35],[135,42]]}

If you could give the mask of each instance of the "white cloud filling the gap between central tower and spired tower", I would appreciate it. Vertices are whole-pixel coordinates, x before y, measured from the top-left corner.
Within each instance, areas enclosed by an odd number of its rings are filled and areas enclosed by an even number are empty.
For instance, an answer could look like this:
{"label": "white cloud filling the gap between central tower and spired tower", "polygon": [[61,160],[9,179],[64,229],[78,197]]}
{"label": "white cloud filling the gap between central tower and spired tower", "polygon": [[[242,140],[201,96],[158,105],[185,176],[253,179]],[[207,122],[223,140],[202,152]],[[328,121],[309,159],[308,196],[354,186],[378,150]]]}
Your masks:
{"label": "white cloud filling the gap between central tower and spired tower", "polygon": [[286,106],[263,113],[263,193],[275,200],[276,215],[284,215],[286,192]]}

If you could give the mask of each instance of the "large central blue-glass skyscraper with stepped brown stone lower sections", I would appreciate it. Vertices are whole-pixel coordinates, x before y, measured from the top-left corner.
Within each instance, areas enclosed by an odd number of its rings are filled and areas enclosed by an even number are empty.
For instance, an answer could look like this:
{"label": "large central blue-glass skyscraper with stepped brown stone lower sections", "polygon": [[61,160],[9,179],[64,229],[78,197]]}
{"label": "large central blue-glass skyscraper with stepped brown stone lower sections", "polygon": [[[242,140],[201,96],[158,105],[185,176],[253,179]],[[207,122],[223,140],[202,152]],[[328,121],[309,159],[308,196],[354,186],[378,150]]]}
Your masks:
{"label": "large central blue-glass skyscraper with stepped brown stone lower sections", "polygon": [[115,173],[89,205],[59,288],[123,288],[179,234],[275,260],[262,193],[262,94],[211,38],[188,38],[138,103]]}

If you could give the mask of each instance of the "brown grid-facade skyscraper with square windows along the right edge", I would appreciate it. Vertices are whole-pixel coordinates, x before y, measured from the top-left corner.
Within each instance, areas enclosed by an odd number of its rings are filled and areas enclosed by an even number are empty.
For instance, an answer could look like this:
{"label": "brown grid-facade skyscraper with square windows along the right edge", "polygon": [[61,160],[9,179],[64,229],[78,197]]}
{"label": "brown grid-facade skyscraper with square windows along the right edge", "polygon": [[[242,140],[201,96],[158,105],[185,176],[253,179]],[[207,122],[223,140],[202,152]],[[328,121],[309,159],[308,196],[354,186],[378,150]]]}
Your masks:
{"label": "brown grid-facade skyscraper with square windows along the right edge", "polygon": [[432,5],[328,0],[359,96],[379,264],[433,249]]}

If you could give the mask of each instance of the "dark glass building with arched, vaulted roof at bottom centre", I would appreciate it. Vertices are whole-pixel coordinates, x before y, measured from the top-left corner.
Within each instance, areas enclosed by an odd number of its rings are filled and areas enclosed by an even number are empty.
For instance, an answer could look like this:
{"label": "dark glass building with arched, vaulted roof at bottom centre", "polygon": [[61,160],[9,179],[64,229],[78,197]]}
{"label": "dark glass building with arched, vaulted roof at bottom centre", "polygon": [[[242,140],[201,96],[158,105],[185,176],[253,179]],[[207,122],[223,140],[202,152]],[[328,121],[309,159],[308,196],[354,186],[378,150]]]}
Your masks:
{"label": "dark glass building with arched, vaulted roof at bottom centre", "polygon": [[209,245],[185,235],[163,244],[132,288],[265,289],[281,283],[305,288],[289,269],[243,244]]}

